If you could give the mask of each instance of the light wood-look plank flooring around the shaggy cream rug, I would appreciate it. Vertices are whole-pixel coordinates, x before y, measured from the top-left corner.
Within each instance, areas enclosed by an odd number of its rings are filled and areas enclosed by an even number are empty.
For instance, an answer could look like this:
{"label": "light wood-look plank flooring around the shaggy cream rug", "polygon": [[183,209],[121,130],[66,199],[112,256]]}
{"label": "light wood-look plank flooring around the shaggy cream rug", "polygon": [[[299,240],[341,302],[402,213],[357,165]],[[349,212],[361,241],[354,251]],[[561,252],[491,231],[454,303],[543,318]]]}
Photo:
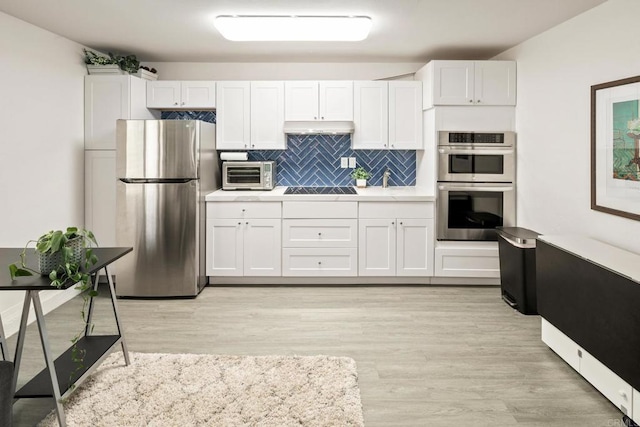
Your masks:
{"label": "light wood-look plank flooring around the shaggy cream rug", "polygon": [[[108,333],[110,306],[99,302],[95,331]],[[495,286],[229,286],[118,302],[131,351],[352,357],[368,427],[622,426],[622,414],[540,341],[540,317],[509,308]],[[76,298],[47,315],[56,355],[79,310]],[[32,325],[19,383],[42,365]],[[15,425],[35,425],[52,408],[20,400]]]}

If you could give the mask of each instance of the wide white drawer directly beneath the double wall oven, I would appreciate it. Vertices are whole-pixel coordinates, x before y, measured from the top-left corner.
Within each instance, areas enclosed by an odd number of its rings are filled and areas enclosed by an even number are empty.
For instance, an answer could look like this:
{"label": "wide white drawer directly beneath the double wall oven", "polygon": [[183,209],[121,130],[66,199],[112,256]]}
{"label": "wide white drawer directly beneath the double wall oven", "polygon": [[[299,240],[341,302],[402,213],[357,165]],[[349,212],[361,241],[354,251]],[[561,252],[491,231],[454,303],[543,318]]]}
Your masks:
{"label": "wide white drawer directly beneath the double wall oven", "polygon": [[500,277],[498,245],[478,242],[474,247],[436,247],[435,275],[441,277]]}

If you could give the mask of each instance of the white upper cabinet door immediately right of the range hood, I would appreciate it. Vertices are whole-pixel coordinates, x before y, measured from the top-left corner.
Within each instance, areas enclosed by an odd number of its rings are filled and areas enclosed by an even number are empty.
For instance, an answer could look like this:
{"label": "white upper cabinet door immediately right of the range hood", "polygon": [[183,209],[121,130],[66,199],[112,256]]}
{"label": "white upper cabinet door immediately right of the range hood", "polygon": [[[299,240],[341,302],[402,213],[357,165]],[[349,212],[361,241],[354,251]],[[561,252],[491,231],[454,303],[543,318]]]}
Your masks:
{"label": "white upper cabinet door immediately right of the range hood", "polygon": [[389,92],[387,82],[353,83],[354,149],[384,149],[389,142]]}

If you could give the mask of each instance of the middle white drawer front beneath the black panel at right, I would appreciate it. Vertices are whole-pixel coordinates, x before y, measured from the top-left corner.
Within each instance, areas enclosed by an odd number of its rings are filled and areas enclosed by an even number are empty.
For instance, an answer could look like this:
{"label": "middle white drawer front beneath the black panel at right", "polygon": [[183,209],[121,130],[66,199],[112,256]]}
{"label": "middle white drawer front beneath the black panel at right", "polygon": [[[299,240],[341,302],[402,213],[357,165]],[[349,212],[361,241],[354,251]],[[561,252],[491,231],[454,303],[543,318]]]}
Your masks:
{"label": "middle white drawer front beneath the black panel at right", "polygon": [[631,386],[602,362],[582,350],[580,374],[623,413],[631,415]]}

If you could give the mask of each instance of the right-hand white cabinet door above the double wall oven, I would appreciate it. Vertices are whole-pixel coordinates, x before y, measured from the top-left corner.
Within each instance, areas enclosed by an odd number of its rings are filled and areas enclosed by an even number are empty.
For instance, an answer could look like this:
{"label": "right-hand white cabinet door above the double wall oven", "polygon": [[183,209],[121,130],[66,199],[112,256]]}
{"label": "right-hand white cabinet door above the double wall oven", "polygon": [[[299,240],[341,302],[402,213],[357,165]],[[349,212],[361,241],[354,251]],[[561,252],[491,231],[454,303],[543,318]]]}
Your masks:
{"label": "right-hand white cabinet door above the double wall oven", "polygon": [[474,68],[476,105],[516,105],[516,63],[476,61]]}

